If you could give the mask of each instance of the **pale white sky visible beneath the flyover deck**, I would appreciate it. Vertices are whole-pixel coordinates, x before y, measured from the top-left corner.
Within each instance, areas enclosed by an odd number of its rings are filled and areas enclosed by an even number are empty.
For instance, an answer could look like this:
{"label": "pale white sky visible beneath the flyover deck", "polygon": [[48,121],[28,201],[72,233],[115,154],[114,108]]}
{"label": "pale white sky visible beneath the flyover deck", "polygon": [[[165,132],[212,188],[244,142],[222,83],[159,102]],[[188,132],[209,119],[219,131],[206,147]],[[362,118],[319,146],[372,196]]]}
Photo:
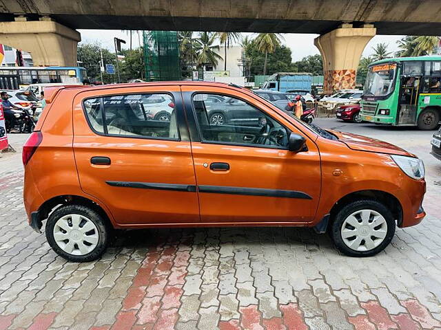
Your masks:
{"label": "pale white sky visible beneath the flyover deck", "polygon": [[[113,38],[116,36],[119,39],[123,39],[126,41],[126,44],[123,45],[124,48],[129,47],[129,36],[126,32],[121,30],[78,30],[81,33],[81,41],[85,43],[100,43],[102,47],[107,48],[108,50],[114,51],[114,43]],[[249,35],[253,35],[248,33]],[[245,33],[244,33],[245,35]],[[316,46],[314,46],[314,38],[318,36],[318,34],[283,34],[285,41],[285,45],[291,48],[292,52],[292,61],[299,61],[303,57],[308,55],[320,54]],[[403,36],[385,36],[379,35],[374,36],[371,41],[365,47],[365,51],[363,52],[363,56],[369,56],[373,53],[372,48],[378,43],[386,43],[388,45],[389,52],[396,52],[398,47],[396,42],[402,39]],[[142,34],[140,32],[140,39],[142,43]],[[133,34],[132,36],[132,47],[138,47],[138,35]]]}

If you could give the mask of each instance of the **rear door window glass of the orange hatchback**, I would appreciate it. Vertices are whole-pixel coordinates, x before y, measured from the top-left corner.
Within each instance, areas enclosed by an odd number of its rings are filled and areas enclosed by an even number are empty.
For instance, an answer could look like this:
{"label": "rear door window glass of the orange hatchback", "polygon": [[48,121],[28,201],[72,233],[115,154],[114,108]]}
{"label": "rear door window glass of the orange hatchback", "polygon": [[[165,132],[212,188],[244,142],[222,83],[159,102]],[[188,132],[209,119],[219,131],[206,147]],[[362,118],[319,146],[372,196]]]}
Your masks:
{"label": "rear door window glass of the orange hatchback", "polygon": [[83,102],[96,133],[110,136],[178,140],[176,109],[169,94],[125,94]]}

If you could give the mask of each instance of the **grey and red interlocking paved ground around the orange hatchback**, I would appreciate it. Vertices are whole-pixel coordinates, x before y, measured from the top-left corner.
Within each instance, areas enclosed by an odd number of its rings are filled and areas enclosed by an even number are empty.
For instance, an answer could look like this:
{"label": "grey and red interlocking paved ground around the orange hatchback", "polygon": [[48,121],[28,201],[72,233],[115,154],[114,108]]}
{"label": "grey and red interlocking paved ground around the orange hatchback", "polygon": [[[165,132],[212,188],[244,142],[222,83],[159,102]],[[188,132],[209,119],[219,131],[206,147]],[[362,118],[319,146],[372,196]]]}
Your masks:
{"label": "grey and red interlocking paved ground around the orange hatchback", "polygon": [[21,155],[6,155],[0,330],[441,329],[441,162],[428,154],[431,133],[345,128],[402,145],[427,168],[428,217],[371,258],[342,256],[309,229],[207,228],[127,232],[101,260],[68,263],[28,227]]}

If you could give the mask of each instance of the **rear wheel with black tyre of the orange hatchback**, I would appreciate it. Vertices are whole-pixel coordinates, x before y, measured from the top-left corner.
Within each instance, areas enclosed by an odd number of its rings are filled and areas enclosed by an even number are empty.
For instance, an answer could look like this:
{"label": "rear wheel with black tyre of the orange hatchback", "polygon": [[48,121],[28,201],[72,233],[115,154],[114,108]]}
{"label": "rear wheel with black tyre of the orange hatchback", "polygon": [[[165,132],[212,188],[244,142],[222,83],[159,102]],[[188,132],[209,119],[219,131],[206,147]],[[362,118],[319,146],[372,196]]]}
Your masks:
{"label": "rear wheel with black tyre of the orange hatchback", "polygon": [[98,259],[105,252],[110,227],[95,210],[67,205],[50,214],[45,234],[51,248],[64,259],[85,262]]}

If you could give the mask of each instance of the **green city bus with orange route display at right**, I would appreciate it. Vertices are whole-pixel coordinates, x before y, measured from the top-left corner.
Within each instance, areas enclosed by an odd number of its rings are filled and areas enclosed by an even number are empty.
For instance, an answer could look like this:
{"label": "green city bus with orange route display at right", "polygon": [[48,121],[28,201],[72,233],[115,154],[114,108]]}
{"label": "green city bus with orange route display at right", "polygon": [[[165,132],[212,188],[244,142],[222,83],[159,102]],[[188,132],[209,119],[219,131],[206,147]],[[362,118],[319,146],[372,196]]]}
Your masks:
{"label": "green city bus with orange route display at right", "polygon": [[367,122],[435,129],[441,119],[441,56],[372,63],[360,104]]}

